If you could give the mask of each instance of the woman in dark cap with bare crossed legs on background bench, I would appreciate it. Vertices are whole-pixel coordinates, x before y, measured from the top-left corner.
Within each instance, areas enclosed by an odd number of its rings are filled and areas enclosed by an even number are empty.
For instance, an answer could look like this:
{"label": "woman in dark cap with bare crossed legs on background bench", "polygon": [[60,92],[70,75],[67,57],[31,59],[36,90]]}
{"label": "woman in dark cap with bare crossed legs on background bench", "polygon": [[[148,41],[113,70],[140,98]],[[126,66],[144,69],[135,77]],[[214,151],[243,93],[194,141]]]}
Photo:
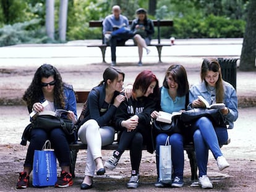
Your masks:
{"label": "woman in dark cap with bare crossed legs on background bench", "polygon": [[150,44],[151,36],[155,33],[154,24],[151,19],[147,18],[147,10],[140,8],[136,10],[137,19],[132,21],[130,30],[134,31],[134,43],[138,46],[139,51],[139,63],[142,65],[143,48],[146,49],[147,54],[150,53],[150,49],[147,46]]}

